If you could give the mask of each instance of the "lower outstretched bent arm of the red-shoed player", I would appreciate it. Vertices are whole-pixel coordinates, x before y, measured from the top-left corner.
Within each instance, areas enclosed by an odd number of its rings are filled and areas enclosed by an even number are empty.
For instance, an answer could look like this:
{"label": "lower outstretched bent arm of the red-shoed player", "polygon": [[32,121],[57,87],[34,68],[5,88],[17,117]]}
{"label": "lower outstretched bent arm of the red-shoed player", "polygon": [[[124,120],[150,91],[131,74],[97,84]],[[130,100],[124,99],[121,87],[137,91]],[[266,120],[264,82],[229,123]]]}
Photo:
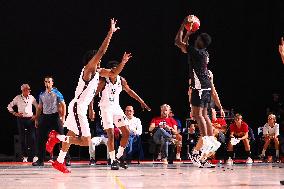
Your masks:
{"label": "lower outstretched bent arm of the red-shoed player", "polygon": [[131,58],[131,53],[124,53],[120,64],[116,68],[113,69],[105,69],[101,68],[99,73],[101,77],[116,77],[124,68],[125,64]]}

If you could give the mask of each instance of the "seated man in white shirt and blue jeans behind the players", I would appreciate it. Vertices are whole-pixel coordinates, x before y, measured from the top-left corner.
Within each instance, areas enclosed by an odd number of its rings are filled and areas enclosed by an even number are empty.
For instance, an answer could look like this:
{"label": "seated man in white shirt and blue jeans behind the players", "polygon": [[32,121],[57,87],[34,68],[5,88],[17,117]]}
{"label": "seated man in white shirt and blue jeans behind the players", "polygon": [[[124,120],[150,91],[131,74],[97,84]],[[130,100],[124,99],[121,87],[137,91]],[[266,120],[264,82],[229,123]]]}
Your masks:
{"label": "seated man in white shirt and blue jeans behind the players", "polygon": [[142,134],[142,124],[139,118],[134,116],[134,109],[132,106],[127,106],[125,108],[125,115],[128,119],[128,127],[130,135],[128,138],[128,144],[126,146],[126,159],[132,159],[135,152],[139,153],[139,159],[143,159],[143,150],[141,147],[141,134]]}

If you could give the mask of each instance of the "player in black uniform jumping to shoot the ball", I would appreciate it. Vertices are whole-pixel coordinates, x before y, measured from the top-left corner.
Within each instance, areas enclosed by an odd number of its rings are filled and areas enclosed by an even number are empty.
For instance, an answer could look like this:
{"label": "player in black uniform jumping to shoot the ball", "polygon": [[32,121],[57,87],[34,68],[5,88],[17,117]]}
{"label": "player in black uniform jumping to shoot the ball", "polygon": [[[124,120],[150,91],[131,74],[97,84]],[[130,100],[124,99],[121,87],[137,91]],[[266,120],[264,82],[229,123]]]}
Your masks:
{"label": "player in black uniform jumping to shoot the ball", "polygon": [[[178,46],[183,53],[188,55],[189,76],[191,80],[191,96],[190,105],[193,118],[197,121],[201,137],[196,147],[192,151],[191,159],[194,165],[202,167],[202,157],[206,157],[209,151],[215,147],[211,120],[207,114],[207,107],[211,101],[211,82],[207,64],[209,54],[206,48],[211,43],[211,37],[207,33],[198,35],[194,45],[188,45],[190,35],[193,33],[187,31],[184,35],[184,26],[189,22],[186,17],[181,24],[175,38],[175,45]],[[218,149],[218,148],[217,148]]]}

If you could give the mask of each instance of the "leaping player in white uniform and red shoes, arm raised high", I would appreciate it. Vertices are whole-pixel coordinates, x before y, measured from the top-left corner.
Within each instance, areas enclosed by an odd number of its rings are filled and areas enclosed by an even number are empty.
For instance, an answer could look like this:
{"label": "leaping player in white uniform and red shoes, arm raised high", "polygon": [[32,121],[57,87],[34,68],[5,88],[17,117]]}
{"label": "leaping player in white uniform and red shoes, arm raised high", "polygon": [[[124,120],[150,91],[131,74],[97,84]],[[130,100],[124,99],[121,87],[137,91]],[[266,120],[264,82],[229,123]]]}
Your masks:
{"label": "leaping player in white uniform and red shoes, arm raised high", "polygon": [[88,63],[82,69],[75,97],[68,106],[68,116],[64,123],[64,127],[67,127],[69,130],[67,136],[59,135],[56,131],[49,133],[49,139],[46,143],[46,150],[48,152],[52,153],[54,145],[62,141],[62,149],[57,160],[52,163],[52,166],[63,173],[70,173],[70,170],[64,164],[64,158],[70,145],[89,146],[91,143],[91,134],[86,114],[88,105],[92,101],[97,89],[99,76],[116,77],[123,69],[125,63],[131,58],[131,54],[124,53],[121,63],[115,69],[97,69],[113,33],[118,29],[116,21],[111,19],[110,30],[99,50],[89,51],[85,57],[85,62]]}

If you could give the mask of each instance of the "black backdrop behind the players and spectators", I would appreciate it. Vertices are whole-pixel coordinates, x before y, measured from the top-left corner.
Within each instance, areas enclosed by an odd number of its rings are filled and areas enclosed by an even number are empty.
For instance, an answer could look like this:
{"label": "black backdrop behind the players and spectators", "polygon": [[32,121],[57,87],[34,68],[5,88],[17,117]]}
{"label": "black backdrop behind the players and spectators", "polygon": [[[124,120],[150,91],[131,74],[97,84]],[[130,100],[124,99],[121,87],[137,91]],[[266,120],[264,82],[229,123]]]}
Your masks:
{"label": "black backdrop behind the players and spectators", "polygon": [[173,44],[189,13],[200,18],[199,32],[213,38],[209,67],[223,106],[243,113],[253,127],[263,124],[270,94],[284,90],[277,46],[284,36],[283,10],[283,0],[0,1],[0,154],[13,153],[16,121],[6,107],[20,85],[29,83],[37,97],[44,89],[43,76],[52,74],[68,103],[82,55],[99,47],[112,17],[121,30],[103,62],[133,53],[121,75],[153,111],[140,111],[126,94],[121,104],[134,105],[145,130],[162,103],[170,104],[181,120],[188,116],[186,56]]}

